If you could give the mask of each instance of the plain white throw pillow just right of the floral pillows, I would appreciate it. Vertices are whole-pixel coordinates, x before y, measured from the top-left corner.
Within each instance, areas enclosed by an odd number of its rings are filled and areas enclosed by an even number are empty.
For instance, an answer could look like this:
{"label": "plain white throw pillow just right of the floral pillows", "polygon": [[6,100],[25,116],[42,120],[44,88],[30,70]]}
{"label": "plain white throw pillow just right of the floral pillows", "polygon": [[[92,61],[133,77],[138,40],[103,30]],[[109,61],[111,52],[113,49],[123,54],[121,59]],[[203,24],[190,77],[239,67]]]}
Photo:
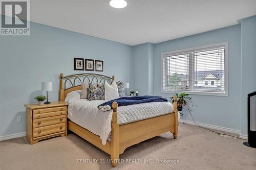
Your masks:
{"label": "plain white throw pillow just right of the floral pillows", "polygon": [[111,101],[117,98],[119,98],[119,93],[116,82],[113,81],[110,85],[108,82],[105,81],[105,101]]}

